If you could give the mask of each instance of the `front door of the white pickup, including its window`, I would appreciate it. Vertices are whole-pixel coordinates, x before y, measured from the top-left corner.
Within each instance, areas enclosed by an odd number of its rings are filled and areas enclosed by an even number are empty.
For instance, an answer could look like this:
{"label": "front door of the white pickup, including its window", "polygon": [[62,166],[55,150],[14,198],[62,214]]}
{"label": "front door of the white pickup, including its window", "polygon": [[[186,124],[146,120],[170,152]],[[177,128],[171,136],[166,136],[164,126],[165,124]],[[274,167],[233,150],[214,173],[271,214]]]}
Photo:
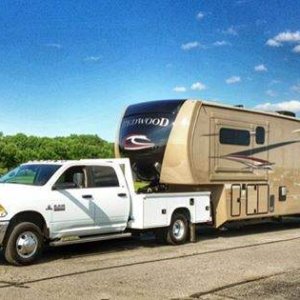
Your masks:
{"label": "front door of the white pickup, including its window", "polygon": [[[81,184],[74,183],[74,174],[81,174]],[[95,208],[87,187],[85,166],[68,168],[53,186],[51,231],[54,235],[93,234]]]}

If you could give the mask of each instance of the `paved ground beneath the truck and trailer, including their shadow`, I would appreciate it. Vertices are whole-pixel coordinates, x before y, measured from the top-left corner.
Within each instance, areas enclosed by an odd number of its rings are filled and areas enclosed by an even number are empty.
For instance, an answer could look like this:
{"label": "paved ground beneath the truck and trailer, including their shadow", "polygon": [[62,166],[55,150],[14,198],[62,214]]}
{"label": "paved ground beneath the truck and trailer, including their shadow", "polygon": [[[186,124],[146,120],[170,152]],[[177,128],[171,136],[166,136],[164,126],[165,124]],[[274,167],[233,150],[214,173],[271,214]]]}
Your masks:
{"label": "paved ground beneath the truck and trailer, including their shadow", "polygon": [[300,299],[300,222],[162,246],[151,235],[45,250],[28,267],[0,253],[0,299]]}

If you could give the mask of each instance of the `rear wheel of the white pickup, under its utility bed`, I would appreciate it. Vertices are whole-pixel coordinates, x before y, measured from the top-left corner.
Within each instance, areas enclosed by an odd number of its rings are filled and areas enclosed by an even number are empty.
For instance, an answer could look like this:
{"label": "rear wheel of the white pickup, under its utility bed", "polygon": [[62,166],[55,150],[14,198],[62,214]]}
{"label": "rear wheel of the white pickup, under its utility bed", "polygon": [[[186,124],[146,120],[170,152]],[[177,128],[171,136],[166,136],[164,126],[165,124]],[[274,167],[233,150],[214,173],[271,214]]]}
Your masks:
{"label": "rear wheel of the white pickup, under its utility bed", "polygon": [[184,214],[175,213],[167,229],[166,241],[171,245],[184,244],[189,235],[189,223]]}

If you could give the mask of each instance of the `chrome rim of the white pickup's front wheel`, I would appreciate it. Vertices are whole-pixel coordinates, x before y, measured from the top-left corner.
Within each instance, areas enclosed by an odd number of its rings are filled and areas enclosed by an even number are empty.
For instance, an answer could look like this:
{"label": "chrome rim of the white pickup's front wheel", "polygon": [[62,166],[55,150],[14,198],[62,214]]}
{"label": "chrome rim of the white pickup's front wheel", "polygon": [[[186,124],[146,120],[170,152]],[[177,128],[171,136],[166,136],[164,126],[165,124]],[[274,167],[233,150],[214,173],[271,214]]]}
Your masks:
{"label": "chrome rim of the white pickup's front wheel", "polygon": [[38,248],[38,243],[38,238],[33,232],[26,231],[21,233],[16,242],[18,255],[22,258],[34,256]]}

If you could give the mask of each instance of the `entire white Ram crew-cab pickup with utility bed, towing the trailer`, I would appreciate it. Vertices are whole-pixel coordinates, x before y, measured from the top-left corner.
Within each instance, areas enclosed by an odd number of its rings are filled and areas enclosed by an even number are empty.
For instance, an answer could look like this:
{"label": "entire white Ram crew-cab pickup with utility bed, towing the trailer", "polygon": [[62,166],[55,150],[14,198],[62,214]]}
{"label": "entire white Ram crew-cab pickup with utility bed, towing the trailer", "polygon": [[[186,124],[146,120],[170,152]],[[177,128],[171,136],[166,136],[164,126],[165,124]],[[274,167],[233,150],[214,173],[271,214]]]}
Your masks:
{"label": "entire white Ram crew-cab pickup with utility bed, towing the trailer", "polygon": [[145,230],[171,244],[211,222],[209,192],[137,194],[128,159],[28,162],[0,179],[0,247],[15,265],[51,246]]}

